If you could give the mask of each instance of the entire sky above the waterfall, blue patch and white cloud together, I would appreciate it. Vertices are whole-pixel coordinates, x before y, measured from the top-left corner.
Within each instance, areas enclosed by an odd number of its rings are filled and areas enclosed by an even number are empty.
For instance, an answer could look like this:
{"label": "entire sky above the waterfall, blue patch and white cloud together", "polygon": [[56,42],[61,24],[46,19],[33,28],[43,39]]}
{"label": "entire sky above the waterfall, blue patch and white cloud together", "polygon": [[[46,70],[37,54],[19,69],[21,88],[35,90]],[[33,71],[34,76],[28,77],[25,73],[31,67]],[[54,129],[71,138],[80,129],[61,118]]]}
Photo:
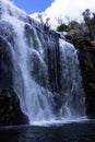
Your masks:
{"label": "entire sky above the waterfall, blue patch and white cloud together", "polygon": [[50,25],[56,28],[57,19],[83,21],[82,12],[90,9],[95,12],[95,0],[12,0],[14,4],[26,11],[32,17],[38,20],[40,12],[43,20],[50,17]]}

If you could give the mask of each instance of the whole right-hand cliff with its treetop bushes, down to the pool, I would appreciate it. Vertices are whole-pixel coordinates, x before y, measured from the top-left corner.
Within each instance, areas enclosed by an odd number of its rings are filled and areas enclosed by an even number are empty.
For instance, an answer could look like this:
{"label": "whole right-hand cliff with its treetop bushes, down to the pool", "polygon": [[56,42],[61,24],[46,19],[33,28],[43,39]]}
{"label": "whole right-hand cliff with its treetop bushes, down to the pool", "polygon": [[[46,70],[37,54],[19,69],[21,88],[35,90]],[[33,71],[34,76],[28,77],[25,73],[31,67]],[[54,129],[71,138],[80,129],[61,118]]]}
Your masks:
{"label": "whole right-hand cliff with its treetop bushes, down to the pool", "polygon": [[66,31],[69,35],[66,39],[78,49],[85,91],[86,114],[90,118],[95,118],[95,13],[86,9],[82,15],[83,23],[69,20],[68,24],[64,24],[60,20],[61,24],[57,31]]}

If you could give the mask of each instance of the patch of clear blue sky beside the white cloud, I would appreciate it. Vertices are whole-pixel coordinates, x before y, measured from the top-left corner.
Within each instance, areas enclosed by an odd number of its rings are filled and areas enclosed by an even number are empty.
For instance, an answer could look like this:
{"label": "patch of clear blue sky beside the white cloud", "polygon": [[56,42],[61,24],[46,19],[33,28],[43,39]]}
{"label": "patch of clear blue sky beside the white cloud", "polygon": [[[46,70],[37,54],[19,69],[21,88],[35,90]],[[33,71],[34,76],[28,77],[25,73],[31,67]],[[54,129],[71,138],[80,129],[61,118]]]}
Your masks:
{"label": "patch of clear blue sky beside the white cloud", "polygon": [[45,11],[51,4],[51,0],[12,0],[15,5],[31,14]]}

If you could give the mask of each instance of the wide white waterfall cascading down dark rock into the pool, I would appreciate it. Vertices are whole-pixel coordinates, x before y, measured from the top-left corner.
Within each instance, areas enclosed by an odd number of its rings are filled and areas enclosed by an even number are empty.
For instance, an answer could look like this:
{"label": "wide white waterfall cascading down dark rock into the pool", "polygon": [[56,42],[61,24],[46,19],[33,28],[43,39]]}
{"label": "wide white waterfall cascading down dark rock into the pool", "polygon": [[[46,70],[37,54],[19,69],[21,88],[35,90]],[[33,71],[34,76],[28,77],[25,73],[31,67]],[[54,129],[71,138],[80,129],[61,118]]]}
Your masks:
{"label": "wide white waterfall cascading down dark rock into the pool", "polygon": [[85,116],[74,47],[8,0],[1,0],[0,24],[3,23],[13,57],[14,90],[29,122]]}

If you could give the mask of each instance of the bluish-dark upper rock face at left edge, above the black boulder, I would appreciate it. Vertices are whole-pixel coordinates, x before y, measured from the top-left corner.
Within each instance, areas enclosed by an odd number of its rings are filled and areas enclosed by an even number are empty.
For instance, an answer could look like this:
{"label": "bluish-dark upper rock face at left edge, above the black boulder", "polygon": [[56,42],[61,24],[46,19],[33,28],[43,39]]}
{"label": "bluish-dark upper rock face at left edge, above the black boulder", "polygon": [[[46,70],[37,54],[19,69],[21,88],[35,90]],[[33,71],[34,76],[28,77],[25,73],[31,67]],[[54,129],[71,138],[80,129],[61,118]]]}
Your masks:
{"label": "bluish-dark upper rock face at left edge, above the black boulder", "polygon": [[0,90],[12,86],[13,63],[10,45],[0,37]]}

